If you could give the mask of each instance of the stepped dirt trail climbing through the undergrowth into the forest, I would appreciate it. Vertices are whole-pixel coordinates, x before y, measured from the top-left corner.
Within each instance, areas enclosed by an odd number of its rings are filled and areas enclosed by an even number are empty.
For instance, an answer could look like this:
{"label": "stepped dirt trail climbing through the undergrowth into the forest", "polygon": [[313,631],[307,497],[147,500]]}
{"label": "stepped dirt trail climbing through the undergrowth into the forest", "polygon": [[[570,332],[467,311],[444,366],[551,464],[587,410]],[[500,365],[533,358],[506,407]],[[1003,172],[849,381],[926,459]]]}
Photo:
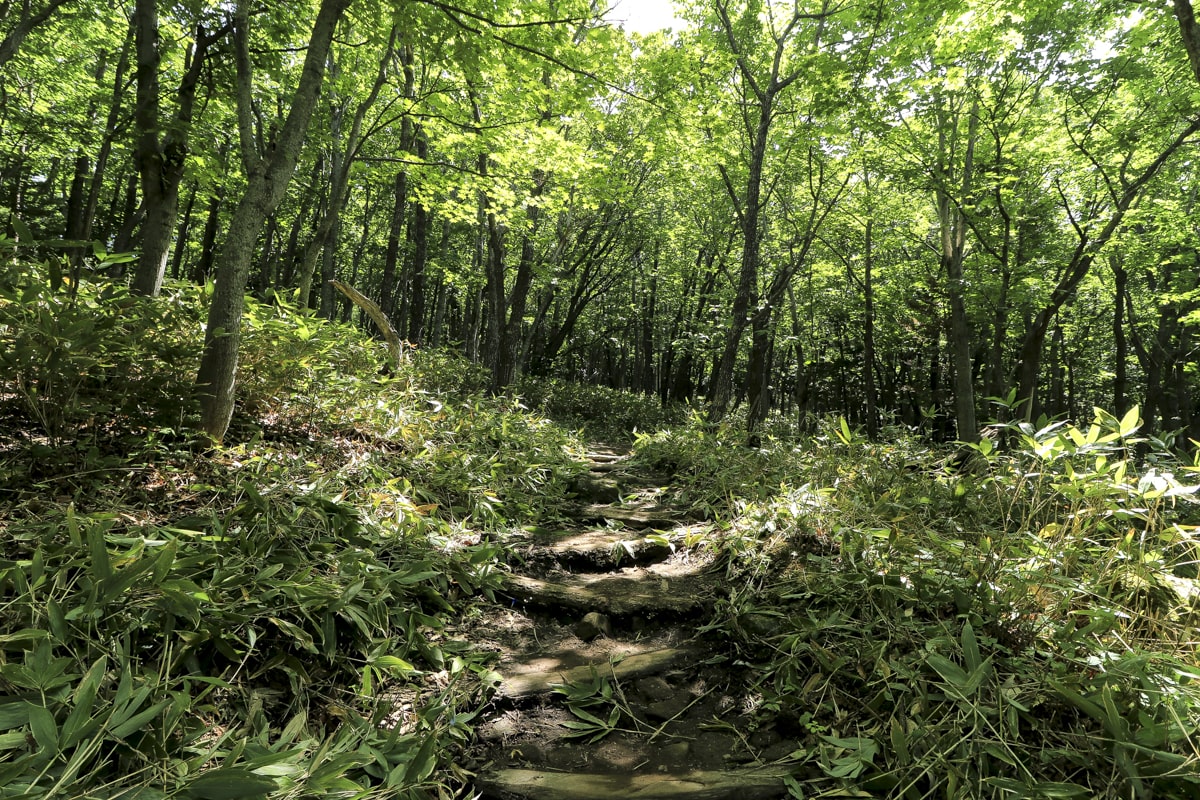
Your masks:
{"label": "stepped dirt trail climbing through the undergrowth into the forest", "polygon": [[754,674],[719,631],[710,525],[596,447],[566,530],[533,531],[486,631],[502,682],[472,751],[487,800],[719,800],[786,794],[796,748],[756,727]]}

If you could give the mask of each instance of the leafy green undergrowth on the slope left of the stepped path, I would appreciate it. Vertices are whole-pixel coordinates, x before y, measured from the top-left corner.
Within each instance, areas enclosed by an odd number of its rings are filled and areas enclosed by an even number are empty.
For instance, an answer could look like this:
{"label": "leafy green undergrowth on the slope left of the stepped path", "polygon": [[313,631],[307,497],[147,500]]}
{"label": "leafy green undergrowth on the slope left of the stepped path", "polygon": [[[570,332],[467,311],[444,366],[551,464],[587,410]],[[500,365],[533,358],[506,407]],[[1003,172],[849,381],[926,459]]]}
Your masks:
{"label": "leafy green undergrowth on the slope left of the stepped path", "polygon": [[[0,796],[449,796],[494,679],[445,630],[498,585],[476,531],[554,513],[575,440],[456,395],[469,365],[416,353],[384,377],[360,332],[250,303],[253,415],[202,447],[178,405],[197,290],[133,301],[22,269],[11,387],[84,378],[54,395],[56,449],[6,443]],[[174,419],[139,416],[170,392]],[[101,421],[119,455],[80,438]]]}

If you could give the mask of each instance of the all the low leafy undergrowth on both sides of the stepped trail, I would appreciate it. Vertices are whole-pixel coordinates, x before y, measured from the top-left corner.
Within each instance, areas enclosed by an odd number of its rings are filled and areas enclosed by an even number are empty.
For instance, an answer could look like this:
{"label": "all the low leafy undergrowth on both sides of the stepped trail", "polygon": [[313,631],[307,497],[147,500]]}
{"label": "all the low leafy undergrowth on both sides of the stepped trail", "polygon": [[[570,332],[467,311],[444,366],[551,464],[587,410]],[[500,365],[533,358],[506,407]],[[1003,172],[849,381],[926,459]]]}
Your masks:
{"label": "all the low leafy undergrowth on both sides of the stepped trail", "polygon": [[[503,679],[470,632],[614,435],[556,411],[642,420],[630,464],[719,531],[689,625],[744,676],[740,763],[793,796],[1196,795],[1195,465],[1136,410],[1000,426],[962,467],[835,421],[746,449],[611,391],[488,398],[438,353],[380,375],[360,332],[252,305],[214,447],[194,293],[4,279],[0,796],[468,793]],[[592,686],[568,699],[619,722]]]}

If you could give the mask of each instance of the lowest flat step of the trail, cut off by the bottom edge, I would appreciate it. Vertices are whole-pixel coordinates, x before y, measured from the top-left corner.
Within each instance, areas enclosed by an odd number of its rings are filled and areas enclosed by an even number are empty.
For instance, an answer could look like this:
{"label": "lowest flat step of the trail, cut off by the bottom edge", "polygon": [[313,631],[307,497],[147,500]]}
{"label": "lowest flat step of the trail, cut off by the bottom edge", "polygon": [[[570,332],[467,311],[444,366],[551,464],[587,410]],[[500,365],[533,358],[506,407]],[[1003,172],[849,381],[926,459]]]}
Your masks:
{"label": "lowest flat step of the trail, cut off by the bottom edge", "polygon": [[479,776],[485,795],[522,800],[758,800],[786,794],[788,770],[758,768],[652,775],[499,770]]}

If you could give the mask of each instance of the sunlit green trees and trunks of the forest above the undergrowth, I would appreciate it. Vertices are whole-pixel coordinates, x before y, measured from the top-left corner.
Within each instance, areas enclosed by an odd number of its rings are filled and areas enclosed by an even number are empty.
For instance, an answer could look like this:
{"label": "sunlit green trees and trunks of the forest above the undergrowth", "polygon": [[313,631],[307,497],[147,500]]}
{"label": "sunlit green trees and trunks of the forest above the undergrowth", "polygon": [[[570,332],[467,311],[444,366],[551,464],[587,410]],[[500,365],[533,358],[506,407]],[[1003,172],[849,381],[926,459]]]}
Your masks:
{"label": "sunlit green trees and trunks of the forest above the undergrowth", "polygon": [[[1140,403],[1200,435],[1187,0],[30,0],[0,18],[12,240],[664,403],[974,440]],[[1190,59],[1190,60],[1189,60]]]}

